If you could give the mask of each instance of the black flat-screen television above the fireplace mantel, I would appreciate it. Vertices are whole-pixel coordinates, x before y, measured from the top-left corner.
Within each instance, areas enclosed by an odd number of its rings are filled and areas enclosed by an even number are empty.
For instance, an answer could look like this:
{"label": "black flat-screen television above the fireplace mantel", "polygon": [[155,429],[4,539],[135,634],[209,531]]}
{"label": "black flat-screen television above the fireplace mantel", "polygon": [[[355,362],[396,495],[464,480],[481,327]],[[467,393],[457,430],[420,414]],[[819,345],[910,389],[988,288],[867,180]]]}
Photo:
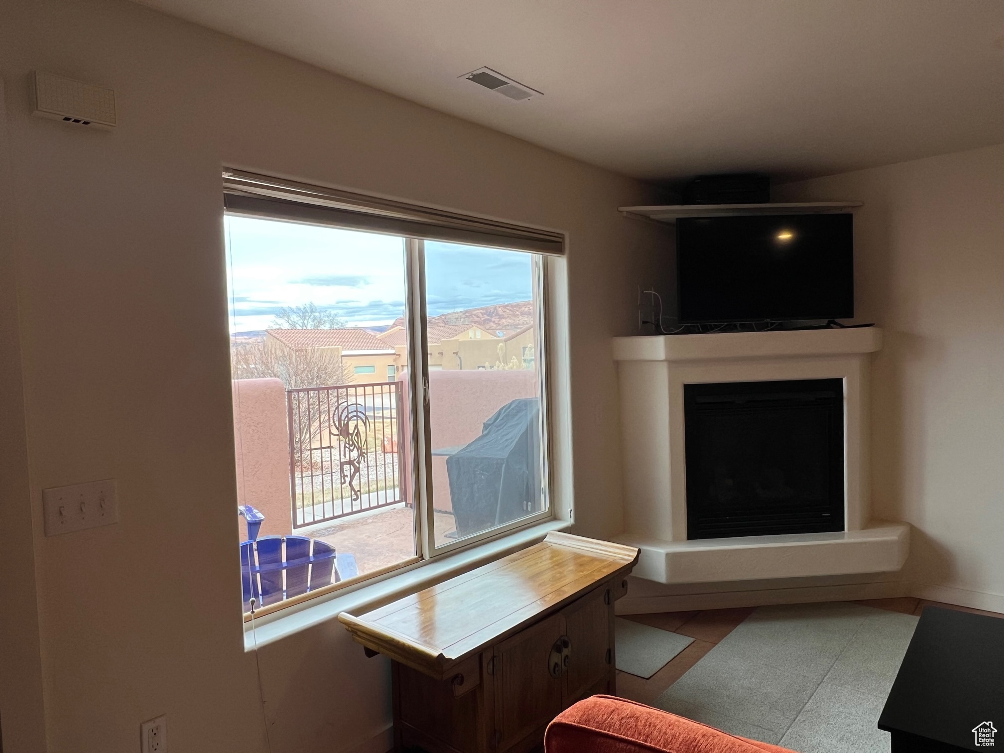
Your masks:
{"label": "black flat-screen television above the fireplace mantel", "polygon": [[681,324],[854,315],[850,214],[677,220]]}

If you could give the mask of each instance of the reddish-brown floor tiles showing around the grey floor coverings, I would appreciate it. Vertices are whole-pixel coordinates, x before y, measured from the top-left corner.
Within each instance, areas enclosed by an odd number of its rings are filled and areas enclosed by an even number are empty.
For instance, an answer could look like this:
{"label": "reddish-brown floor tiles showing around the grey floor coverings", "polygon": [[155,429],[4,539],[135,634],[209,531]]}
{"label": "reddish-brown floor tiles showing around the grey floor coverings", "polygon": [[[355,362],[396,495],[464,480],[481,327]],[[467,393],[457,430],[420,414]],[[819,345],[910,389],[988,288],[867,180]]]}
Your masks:
{"label": "reddish-brown floor tiles showing around the grey floor coverings", "polygon": [[[945,604],[913,597],[873,598],[854,603],[905,614],[919,615],[926,606],[944,606],[949,609],[961,609],[977,614],[1004,617],[1004,614],[998,614],[993,611],[982,611],[966,606],[955,606],[954,604]],[[658,614],[624,614],[623,616],[628,619],[633,619],[644,624],[651,624],[654,628],[661,628],[664,631],[679,633],[681,636],[689,636],[695,640],[676,659],[648,680],[629,675],[624,672],[618,672],[617,695],[652,706],[655,700],[671,685],[683,677],[688,670],[714,649],[722,639],[732,633],[746,617],[752,614],[754,608],[749,606],[734,609],[673,611]],[[751,735],[751,737],[755,737],[755,735]]]}

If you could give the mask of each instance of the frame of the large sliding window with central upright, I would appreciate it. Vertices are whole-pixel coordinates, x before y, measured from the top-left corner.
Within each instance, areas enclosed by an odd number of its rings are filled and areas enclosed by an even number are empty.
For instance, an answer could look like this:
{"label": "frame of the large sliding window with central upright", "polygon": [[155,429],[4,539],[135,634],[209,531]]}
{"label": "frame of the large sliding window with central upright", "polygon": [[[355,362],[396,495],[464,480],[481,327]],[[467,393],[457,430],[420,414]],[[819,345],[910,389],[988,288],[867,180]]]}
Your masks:
{"label": "frame of the large sliding window with central upright", "polygon": [[[232,171],[224,171],[225,179],[232,175],[234,175]],[[292,185],[298,187],[303,186],[303,184]],[[318,189],[318,191],[324,190]],[[242,193],[243,192],[241,191],[228,188],[225,185],[225,196],[231,194],[241,195]],[[276,194],[273,193],[272,196],[274,197]],[[285,199],[285,197],[283,197],[283,199]],[[379,199],[374,200],[380,201]],[[309,202],[304,202],[302,200],[297,201],[297,199],[286,200],[284,203],[287,206],[289,203],[298,204],[301,207],[306,207],[311,210],[322,208],[321,206],[311,207]],[[385,580],[387,577],[391,577],[399,571],[412,570],[416,567],[421,567],[424,564],[433,562],[439,557],[455,554],[461,550],[483,545],[522,529],[539,525],[542,522],[558,519],[559,510],[556,505],[558,495],[555,490],[555,478],[558,474],[554,472],[556,468],[555,463],[557,461],[554,455],[553,446],[555,417],[552,415],[557,403],[555,402],[553,394],[554,385],[552,368],[549,367],[552,355],[550,352],[552,341],[557,341],[555,338],[551,337],[550,330],[555,325],[555,321],[557,321],[557,319],[554,316],[554,312],[551,310],[550,293],[551,286],[554,281],[552,279],[552,265],[557,261],[554,257],[562,258],[563,245],[561,246],[560,253],[555,253],[553,250],[544,251],[538,248],[530,248],[526,246],[518,247],[518,244],[510,245],[506,243],[507,239],[503,238],[495,238],[494,242],[488,243],[484,240],[478,242],[477,239],[451,238],[448,236],[438,238],[435,237],[435,233],[424,233],[423,235],[425,237],[415,237],[402,232],[397,232],[394,229],[388,229],[384,227],[380,221],[374,222],[371,227],[367,228],[364,225],[364,221],[343,223],[339,221],[341,219],[340,216],[332,218],[331,221],[319,222],[316,221],[316,219],[291,219],[290,216],[283,216],[282,213],[271,215],[270,213],[264,211],[246,212],[241,209],[232,209],[227,206],[226,202],[224,203],[223,209],[224,216],[256,217],[258,219],[295,222],[297,224],[324,225],[344,230],[371,232],[379,235],[390,235],[401,238],[404,242],[405,259],[406,330],[410,330],[409,348],[411,352],[409,360],[413,363],[421,364],[421,370],[418,374],[419,379],[410,378],[408,381],[410,392],[409,400],[411,401],[411,405],[413,407],[422,407],[421,411],[412,411],[413,420],[411,422],[411,426],[408,428],[408,431],[410,431],[413,435],[413,442],[411,443],[412,462],[410,465],[413,476],[412,487],[415,489],[414,496],[416,497],[413,503],[413,509],[416,512],[414,516],[415,555],[404,559],[400,563],[395,563],[372,572],[362,573],[356,577],[342,580],[337,583],[331,583],[322,588],[318,588],[315,591],[309,591],[282,601],[274,602],[267,606],[258,607],[253,611],[244,612],[245,621],[253,621],[256,617],[273,614],[289,606],[302,604],[304,601],[313,600],[325,595],[330,595],[334,592],[343,591],[346,588],[354,589],[360,585],[366,585],[370,582]],[[418,207],[418,209],[421,210],[422,208]],[[338,214],[341,215],[343,213]],[[364,218],[364,214],[362,216]],[[463,215],[458,215],[456,213],[452,216],[464,217]],[[468,219],[472,223],[482,221],[481,218],[477,218],[475,216],[469,216]],[[491,223],[493,221],[484,220],[484,222]],[[519,229],[520,227],[521,226],[512,224],[506,225],[507,230],[511,228]],[[532,234],[534,232],[546,233],[551,236],[558,236],[561,238],[561,242],[564,242],[563,234],[554,233],[553,231],[542,231],[529,226],[522,227],[525,228],[528,234]],[[487,531],[482,531],[477,534],[472,534],[461,539],[450,541],[440,546],[436,545],[435,516],[433,514],[435,499],[432,489],[431,422],[430,403],[427,399],[430,379],[429,373],[433,370],[429,364],[428,323],[426,316],[425,240],[427,238],[431,240],[442,240],[447,243],[476,245],[487,248],[497,248],[500,250],[509,250],[517,253],[529,253],[532,255],[532,284],[535,314],[534,367],[538,370],[537,383],[541,412],[541,486],[545,503],[544,509],[539,512],[532,513],[526,517],[491,528]],[[228,311],[228,316],[229,315]],[[564,319],[561,320],[563,321]],[[412,368],[409,370],[413,371]],[[399,369],[395,375],[395,381],[400,380],[400,378],[401,373]],[[570,522],[570,510],[568,510],[567,513],[568,522]]]}

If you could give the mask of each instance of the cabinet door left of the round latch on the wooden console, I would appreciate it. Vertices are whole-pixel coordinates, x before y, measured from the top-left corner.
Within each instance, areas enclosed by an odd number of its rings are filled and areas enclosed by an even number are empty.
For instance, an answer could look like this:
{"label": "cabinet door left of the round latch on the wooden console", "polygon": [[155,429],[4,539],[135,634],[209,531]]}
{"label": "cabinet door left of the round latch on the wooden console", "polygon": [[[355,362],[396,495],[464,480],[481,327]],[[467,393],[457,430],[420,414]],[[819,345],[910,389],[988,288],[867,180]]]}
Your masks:
{"label": "cabinet door left of the round latch on the wooden console", "polygon": [[495,647],[497,750],[539,742],[547,723],[561,711],[561,673],[552,676],[548,661],[563,621],[554,614]]}

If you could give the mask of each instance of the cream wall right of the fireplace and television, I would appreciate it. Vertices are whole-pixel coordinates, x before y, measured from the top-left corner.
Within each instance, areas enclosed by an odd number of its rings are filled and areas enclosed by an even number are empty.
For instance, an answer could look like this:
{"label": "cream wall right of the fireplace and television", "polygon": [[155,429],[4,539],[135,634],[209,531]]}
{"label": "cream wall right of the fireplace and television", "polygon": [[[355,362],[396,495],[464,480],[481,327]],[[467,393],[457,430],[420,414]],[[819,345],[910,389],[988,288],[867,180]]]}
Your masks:
{"label": "cream wall right of the fireplace and television", "polygon": [[871,371],[871,504],[914,525],[919,595],[1004,609],[1004,145],[789,184],[859,200],[855,320]]}

